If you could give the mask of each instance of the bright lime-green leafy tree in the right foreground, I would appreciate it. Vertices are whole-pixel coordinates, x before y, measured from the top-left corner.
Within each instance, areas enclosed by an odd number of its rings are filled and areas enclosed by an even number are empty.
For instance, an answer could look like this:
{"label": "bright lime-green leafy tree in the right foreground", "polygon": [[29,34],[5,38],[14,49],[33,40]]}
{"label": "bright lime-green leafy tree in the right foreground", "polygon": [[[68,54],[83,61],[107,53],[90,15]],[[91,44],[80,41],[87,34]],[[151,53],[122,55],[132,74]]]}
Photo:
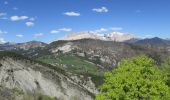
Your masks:
{"label": "bright lime-green leafy tree in the right foreground", "polygon": [[96,100],[170,100],[170,88],[153,59],[141,55],[123,60],[105,73]]}

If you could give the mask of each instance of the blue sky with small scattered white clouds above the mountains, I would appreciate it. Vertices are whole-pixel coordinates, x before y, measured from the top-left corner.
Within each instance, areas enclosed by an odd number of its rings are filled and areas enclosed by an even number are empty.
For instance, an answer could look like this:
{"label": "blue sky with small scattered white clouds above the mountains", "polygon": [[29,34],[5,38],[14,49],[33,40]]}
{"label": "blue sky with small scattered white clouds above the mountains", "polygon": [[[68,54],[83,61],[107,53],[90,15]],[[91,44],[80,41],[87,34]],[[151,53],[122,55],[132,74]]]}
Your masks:
{"label": "blue sky with small scattered white clouds above the mountains", "polygon": [[0,0],[0,43],[52,42],[72,32],[170,38],[170,0]]}

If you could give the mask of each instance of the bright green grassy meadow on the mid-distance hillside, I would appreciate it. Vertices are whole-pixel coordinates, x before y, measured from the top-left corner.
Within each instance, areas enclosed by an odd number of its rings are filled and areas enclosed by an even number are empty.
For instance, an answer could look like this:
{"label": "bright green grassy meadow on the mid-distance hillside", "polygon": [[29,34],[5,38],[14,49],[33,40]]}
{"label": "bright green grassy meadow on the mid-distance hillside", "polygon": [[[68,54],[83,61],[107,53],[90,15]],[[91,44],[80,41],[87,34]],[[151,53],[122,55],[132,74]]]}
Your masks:
{"label": "bright green grassy meadow on the mid-distance hillside", "polygon": [[67,66],[66,69],[77,73],[77,74],[101,74],[102,71],[96,66],[96,64],[89,62],[88,60],[82,59],[76,55],[62,55],[58,57],[52,56],[43,56],[38,58],[39,61],[44,63],[53,64],[56,63],[59,65]]}

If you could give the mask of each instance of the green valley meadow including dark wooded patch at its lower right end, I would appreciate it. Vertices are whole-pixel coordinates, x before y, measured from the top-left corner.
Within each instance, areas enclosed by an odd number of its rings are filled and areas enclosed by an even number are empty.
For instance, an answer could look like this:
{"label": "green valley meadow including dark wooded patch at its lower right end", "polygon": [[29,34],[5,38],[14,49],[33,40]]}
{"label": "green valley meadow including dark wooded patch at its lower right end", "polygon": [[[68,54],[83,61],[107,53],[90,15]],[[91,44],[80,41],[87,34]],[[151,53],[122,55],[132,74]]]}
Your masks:
{"label": "green valley meadow including dark wooded patch at its lower right end", "polygon": [[86,58],[65,54],[57,57],[46,55],[39,57],[37,60],[52,65],[58,64],[60,67],[66,66],[62,68],[85,77],[92,77],[92,81],[96,86],[103,83],[103,74],[105,70],[99,68],[96,64]]}

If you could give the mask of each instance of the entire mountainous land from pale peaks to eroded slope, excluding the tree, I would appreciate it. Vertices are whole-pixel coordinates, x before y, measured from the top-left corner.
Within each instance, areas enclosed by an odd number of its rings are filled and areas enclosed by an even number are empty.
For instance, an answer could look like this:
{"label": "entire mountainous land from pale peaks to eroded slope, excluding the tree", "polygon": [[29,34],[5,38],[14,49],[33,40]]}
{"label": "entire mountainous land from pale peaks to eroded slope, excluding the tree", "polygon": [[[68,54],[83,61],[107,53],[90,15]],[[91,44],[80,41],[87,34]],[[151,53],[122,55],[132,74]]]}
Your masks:
{"label": "entire mountainous land from pale peaks to eroded slope, excluding the tree", "polygon": [[[170,41],[158,37],[138,39],[120,32],[109,35],[79,32],[49,44],[39,41],[0,44],[0,99],[45,96],[57,100],[93,100],[105,72],[122,59],[141,54],[160,64],[170,56]],[[3,95],[4,92],[8,95]]]}

